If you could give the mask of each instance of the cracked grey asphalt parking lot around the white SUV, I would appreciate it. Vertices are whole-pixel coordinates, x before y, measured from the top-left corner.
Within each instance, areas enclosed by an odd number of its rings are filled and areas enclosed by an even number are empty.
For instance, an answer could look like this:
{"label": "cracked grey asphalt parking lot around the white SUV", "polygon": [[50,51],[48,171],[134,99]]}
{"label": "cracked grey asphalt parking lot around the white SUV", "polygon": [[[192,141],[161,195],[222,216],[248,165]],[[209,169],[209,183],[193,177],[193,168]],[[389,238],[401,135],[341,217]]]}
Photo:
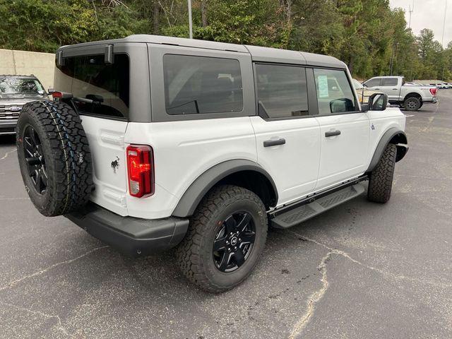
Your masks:
{"label": "cracked grey asphalt parking lot around the white SUV", "polygon": [[254,274],[208,295],[171,252],[132,259],[33,208],[0,137],[0,338],[452,338],[452,90],[406,113],[391,201],[268,234]]}

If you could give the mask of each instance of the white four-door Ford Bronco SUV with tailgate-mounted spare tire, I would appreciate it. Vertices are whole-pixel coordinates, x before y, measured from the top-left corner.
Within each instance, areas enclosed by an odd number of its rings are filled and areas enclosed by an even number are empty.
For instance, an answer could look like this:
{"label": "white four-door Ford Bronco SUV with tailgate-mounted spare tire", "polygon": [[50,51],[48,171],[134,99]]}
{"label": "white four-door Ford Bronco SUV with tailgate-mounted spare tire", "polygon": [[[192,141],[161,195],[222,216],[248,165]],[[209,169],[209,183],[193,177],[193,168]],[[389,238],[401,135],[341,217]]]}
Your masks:
{"label": "white four-door Ford Bronco SUV with tailgate-mounted spare tire", "polygon": [[64,46],[53,101],[23,107],[20,171],[43,215],[125,254],[176,247],[210,292],[241,283],[266,243],[364,192],[386,203],[405,116],[361,107],[325,55],[153,35]]}

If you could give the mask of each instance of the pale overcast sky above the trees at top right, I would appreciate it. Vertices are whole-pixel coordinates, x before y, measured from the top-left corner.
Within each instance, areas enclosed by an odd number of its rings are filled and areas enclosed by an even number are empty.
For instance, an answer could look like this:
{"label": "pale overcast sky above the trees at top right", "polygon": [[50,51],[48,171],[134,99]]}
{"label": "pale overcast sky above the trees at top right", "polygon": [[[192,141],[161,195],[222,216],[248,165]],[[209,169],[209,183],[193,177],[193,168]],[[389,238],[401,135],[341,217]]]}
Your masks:
{"label": "pale overcast sky above the trees at top right", "polygon": [[446,27],[444,28],[444,47],[452,41],[452,0],[389,0],[391,7],[400,7],[405,10],[407,24],[410,20],[408,7],[414,2],[414,11],[411,15],[411,28],[415,35],[420,30],[429,28],[435,33],[435,40],[441,42],[443,35],[444,8],[447,1]]}

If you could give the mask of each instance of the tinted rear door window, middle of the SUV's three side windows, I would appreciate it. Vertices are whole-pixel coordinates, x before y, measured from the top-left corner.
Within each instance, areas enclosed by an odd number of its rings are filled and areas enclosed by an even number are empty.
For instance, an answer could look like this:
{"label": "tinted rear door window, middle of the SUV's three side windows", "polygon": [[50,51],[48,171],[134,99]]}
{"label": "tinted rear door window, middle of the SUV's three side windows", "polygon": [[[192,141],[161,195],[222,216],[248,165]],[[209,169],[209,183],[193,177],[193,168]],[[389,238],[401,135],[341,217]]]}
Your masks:
{"label": "tinted rear door window, middle of the SUV's three side windows", "polygon": [[303,67],[256,64],[259,109],[270,118],[308,115],[306,70]]}

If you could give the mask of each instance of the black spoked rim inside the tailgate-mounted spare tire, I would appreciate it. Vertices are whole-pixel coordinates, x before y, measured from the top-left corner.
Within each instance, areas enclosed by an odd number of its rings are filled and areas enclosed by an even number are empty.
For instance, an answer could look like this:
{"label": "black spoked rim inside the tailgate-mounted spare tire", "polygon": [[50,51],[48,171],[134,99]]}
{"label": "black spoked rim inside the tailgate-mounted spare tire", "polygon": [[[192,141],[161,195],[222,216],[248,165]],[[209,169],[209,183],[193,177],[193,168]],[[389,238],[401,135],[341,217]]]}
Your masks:
{"label": "black spoked rim inside the tailgate-mounted spare tire", "polygon": [[47,190],[48,177],[42,143],[30,125],[26,126],[23,132],[23,154],[32,186],[38,194],[44,194]]}

